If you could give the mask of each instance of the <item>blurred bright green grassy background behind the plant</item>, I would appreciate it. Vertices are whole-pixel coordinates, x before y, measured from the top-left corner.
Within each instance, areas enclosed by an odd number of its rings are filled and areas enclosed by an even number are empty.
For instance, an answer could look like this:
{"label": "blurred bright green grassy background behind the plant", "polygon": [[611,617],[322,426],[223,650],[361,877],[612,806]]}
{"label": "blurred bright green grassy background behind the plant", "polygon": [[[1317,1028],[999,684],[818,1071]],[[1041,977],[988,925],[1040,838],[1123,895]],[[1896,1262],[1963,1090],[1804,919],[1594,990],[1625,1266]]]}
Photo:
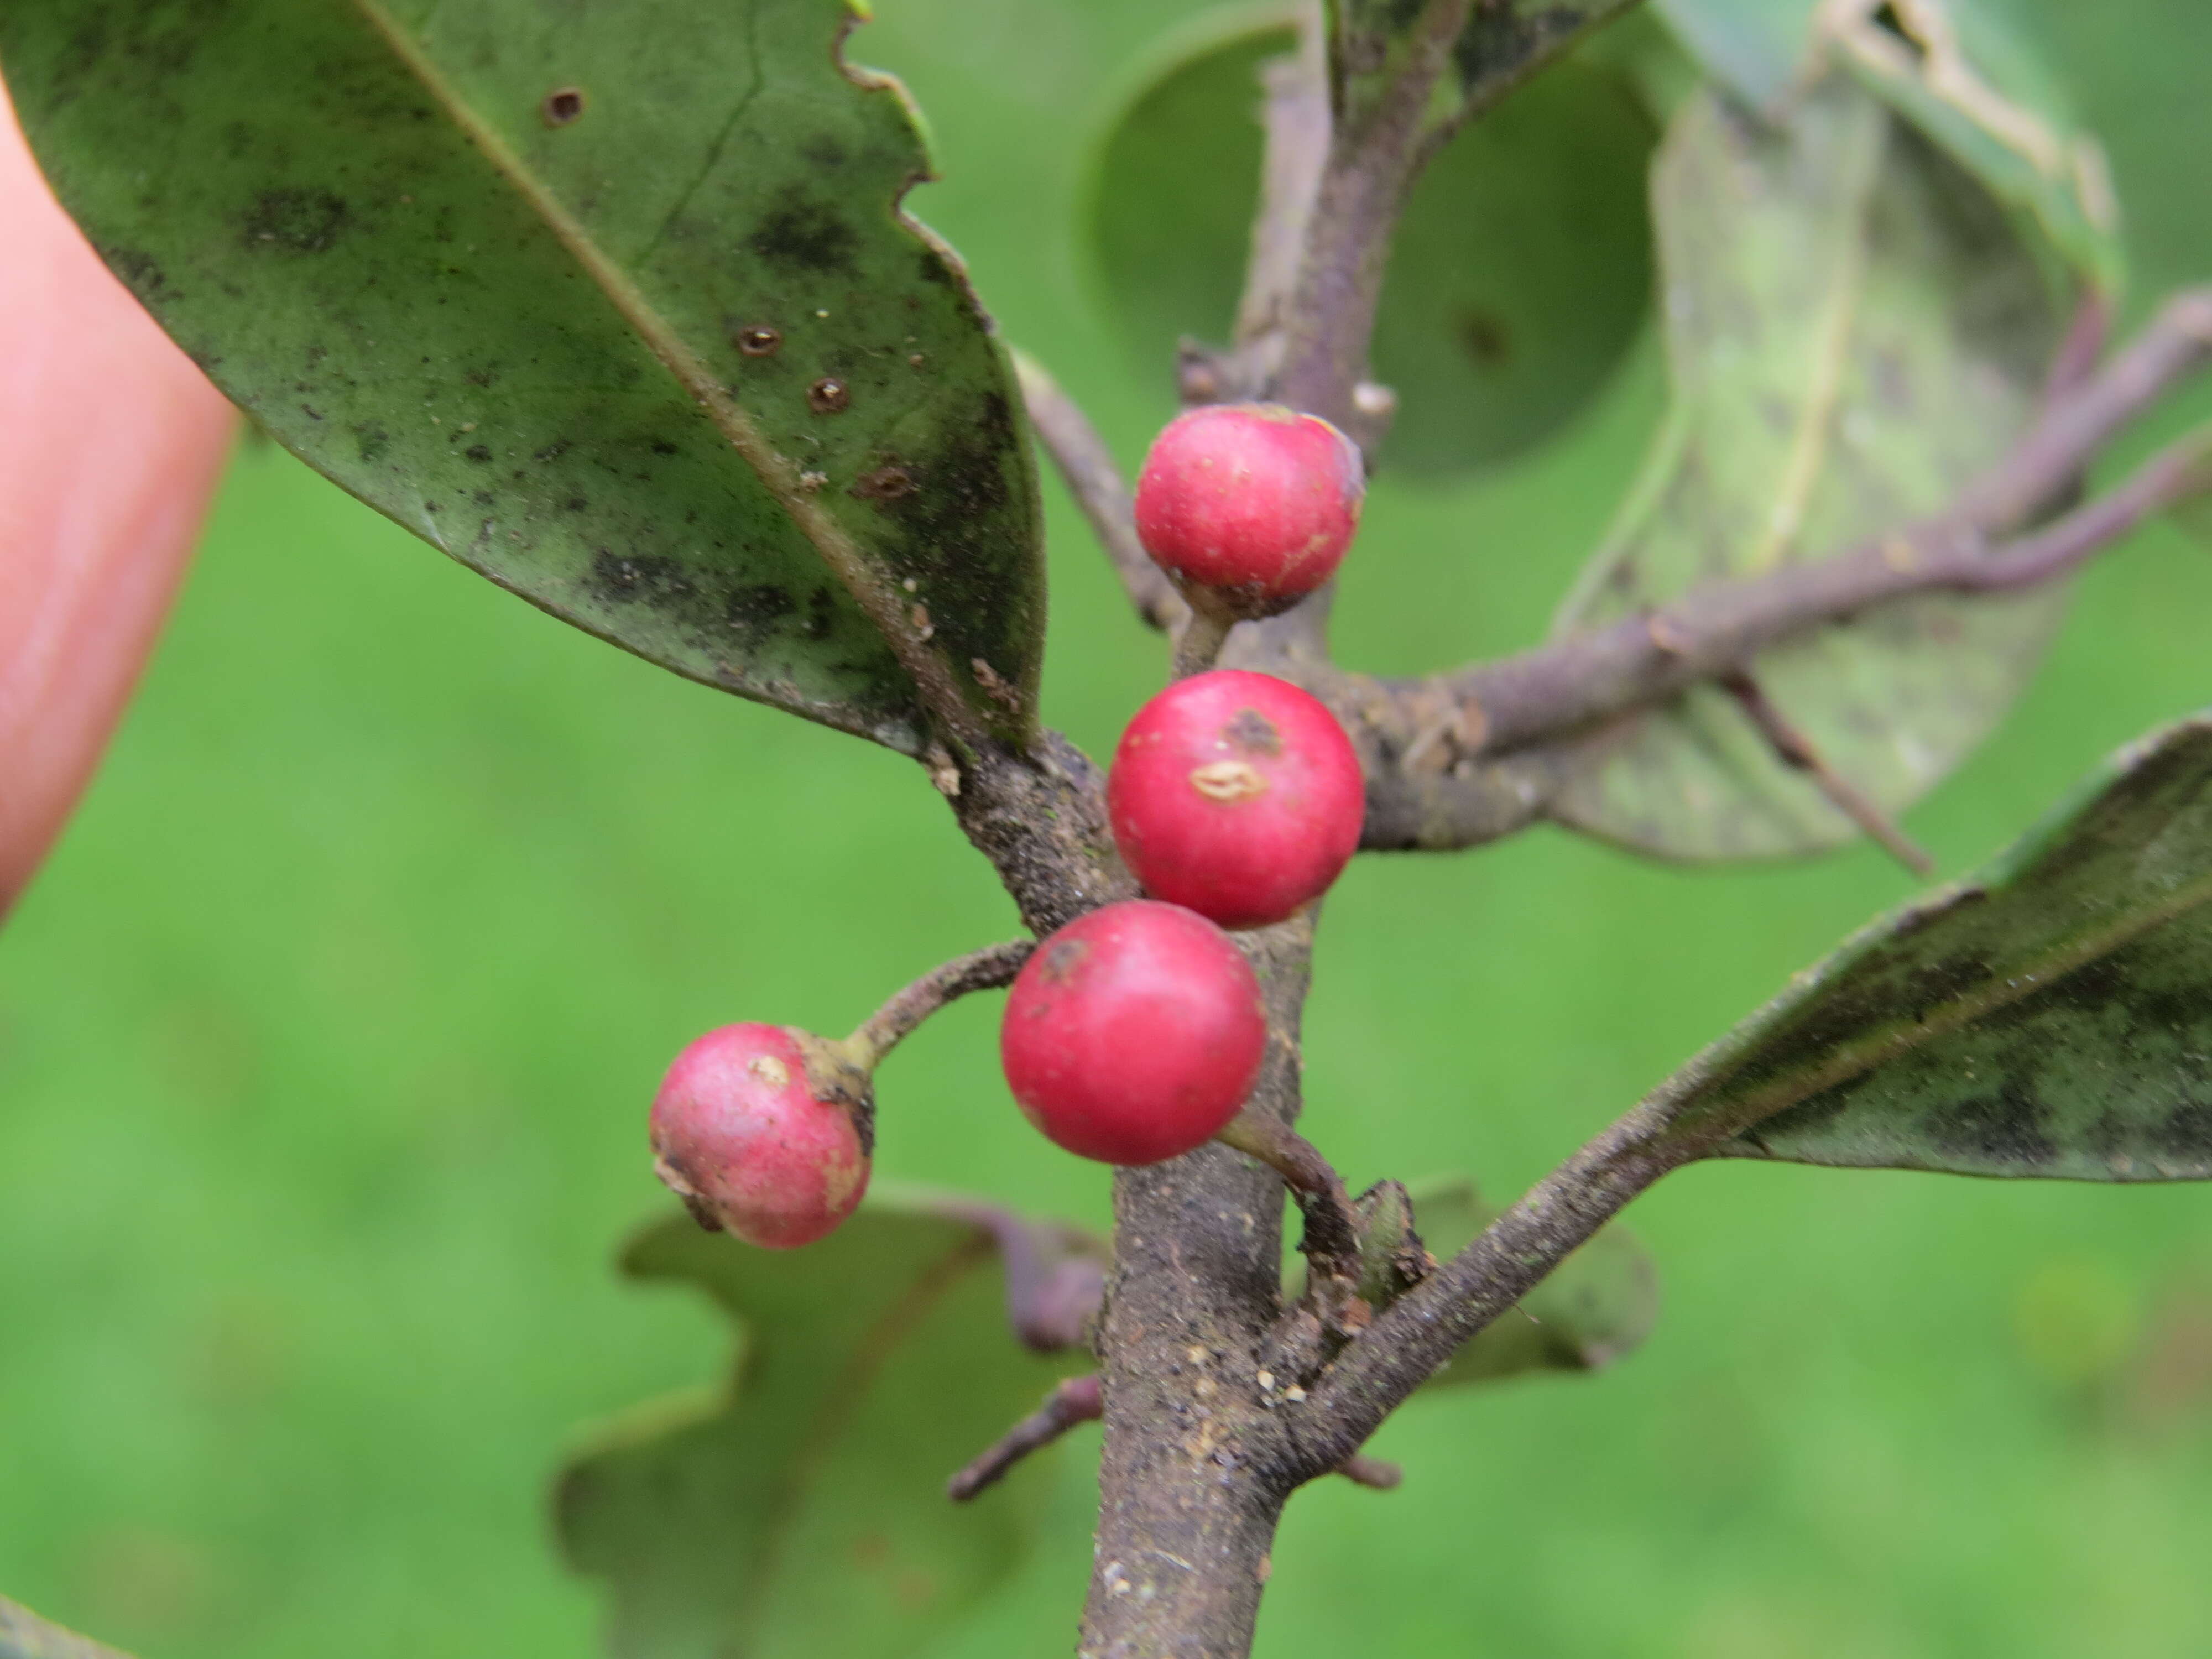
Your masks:
{"label": "blurred bright green grassy background behind the plant", "polygon": [[[1073,195],[1086,117],[1190,7],[878,11],[856,55],[907,75],[947,173],[916,210],[1133,462],[1168,376],[1099,321]],[[2110,71],[2086,102],[2137,294],[2212,274],[2212,22],[2115,66],[2115,15],[2042,15],[2059,62]],[[1646,341],[1564,445],[1378,482],[1340,655],[1535,637],[1657,398]],[[1161,650],[1057,489],[1051,515],[1046,712],[1104,752]],[[1947,872],[1991,852],[2212,701],[2208,633],[2203,551],[2137,538],[1911,832]],[[1307,1128],[1354,1186],[1469,1170],[1502,1197],[1907,889],[1867,852],[1712,874],[1555,832],[1365,860],[1329,902]],[[843,1031],[1011,929],[909,763],[568,633],[241,453],[0,936],[0,1586],[148,1659],[584,1659],[546,1478],[580,1425],[728,1354],[703,1301],[608,1267],[659,1206],[659,1068],[732,1018]],[[962,1004],[887,1066],[880,1170],[1104,1221],[1106,1172],[1015,1117],[995,1015]],[[1402,1491],[1292,1504],[1267,1659],[2212,1652],[2212,1192],[1723,1166],[1632,1221],[1666,1276],[1646,1352],[1411,1405],[1376,1442]],[[1062,1524],[936,1659],[1066,1650],[1075,1447]]]}

